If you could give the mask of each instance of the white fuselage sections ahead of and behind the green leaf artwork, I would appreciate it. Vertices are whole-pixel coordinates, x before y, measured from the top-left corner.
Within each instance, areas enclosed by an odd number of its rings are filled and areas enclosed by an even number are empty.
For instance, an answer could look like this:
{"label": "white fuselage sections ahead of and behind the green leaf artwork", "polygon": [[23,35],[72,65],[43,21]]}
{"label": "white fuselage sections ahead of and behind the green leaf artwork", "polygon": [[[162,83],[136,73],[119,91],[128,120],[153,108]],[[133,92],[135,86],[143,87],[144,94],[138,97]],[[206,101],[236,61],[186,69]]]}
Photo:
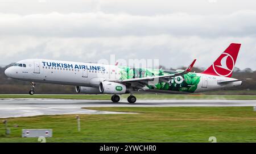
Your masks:
{"label": "white fuselage sections ahead of and behind the green leaf artwork", "polygon": [[[8,77],[30,82],[43,82],[61,85],[86,86],[98,88],[104,80],[118,80],[121,77],[119,67],[95,63],[77,63],[45,59],[27,59],[18,61],[16,66],[5,70]],[[20,65],[22,64],[22,65]],[[24,65],[23,65],[24,64]],[[241,85],[241,81],[218,84],[219,81],[232,81],[234,78],[196,73],[201,77],[195,92],[216,90]],[[159,90],[166,92],[166,90]]]}

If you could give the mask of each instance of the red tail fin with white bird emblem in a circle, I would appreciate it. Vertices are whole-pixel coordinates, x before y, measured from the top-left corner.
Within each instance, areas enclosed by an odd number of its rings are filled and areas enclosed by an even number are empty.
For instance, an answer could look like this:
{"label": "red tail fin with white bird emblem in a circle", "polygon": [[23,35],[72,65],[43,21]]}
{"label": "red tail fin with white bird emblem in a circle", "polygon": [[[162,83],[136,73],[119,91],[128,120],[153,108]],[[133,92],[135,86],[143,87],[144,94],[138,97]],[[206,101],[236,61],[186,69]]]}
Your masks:
{"label": "red tail fin with white bird emblem in a circle", "polygon": [[231,43],[203,74],[231,77],[241,44]]}

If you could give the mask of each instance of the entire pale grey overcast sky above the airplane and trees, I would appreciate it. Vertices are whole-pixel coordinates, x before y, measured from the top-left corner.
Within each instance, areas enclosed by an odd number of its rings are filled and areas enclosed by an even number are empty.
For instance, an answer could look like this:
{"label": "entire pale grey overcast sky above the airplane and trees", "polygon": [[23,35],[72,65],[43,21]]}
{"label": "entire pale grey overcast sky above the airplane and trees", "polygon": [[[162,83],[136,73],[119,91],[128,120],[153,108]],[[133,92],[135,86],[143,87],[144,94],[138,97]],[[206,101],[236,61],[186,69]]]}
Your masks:
{"label": "entire pale grey overcast sky above the airplane and trees", "polygon": [[256,69],[254,0],[0,0],[0,65],[22,59],[159,59],[207,68],[230,43]]}

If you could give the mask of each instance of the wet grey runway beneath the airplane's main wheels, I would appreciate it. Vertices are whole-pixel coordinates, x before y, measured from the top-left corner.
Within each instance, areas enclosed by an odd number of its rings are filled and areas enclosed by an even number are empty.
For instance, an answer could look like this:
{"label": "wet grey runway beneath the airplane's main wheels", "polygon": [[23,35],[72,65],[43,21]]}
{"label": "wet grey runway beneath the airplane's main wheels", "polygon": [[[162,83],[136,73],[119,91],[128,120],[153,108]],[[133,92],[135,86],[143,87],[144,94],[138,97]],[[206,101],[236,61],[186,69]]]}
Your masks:
{"label": "wet grey runway beneath the airplane's main wheels", "polygon": [[[256,106],[256,100],[168,99],[138,100],[134,104],[86,99],[1,99],[0,118],[56,114],[123,114],[81,109],[82,107],[206,107]],[[131,113],[130,113],[131,114]]]}

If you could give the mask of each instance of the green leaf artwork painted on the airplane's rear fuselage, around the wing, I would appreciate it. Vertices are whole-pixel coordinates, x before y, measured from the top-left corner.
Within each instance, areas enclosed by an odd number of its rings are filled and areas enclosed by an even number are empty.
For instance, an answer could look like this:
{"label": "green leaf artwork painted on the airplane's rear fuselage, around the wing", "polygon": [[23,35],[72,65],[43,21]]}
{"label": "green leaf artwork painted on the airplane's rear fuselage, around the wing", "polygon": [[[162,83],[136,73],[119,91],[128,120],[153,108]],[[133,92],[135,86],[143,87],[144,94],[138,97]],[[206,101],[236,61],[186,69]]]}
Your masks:
{"label": "green leaf artwork painted on the airplane's rear fuselage, around the wing", "polygon": [[[163,76],[168,74],[177,73],[172,70],[162,69],[144,69],[144,68],[132,68],[129,66],[118,66],[121,74],[121,80],[129,78],[142,78],[151,76]],[[159,81],[155,85],[147,85],[149,89],[155,90],[171,90],[171,91],[184,91],[193,93],[197,89],[197,85],[200,82],[200,76],[196,76],[196,73],[187,73],[182,76],[171,78],[170,81]]]}

